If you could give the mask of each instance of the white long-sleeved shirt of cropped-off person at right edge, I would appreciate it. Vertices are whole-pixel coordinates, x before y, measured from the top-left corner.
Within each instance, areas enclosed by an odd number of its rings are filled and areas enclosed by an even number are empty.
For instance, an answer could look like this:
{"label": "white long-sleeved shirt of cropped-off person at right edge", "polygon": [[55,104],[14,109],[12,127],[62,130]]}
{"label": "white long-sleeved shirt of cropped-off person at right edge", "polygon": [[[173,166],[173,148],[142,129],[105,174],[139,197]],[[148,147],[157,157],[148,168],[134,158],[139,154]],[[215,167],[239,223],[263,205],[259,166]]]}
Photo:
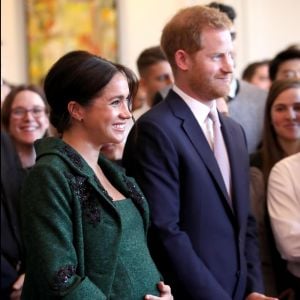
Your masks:
{"label": "white long-sleeved shirt of cropped-off person at right edge", "polygon": [[278,251],[300,278],[300,153],[279,161],[268,183],[268,211]]}

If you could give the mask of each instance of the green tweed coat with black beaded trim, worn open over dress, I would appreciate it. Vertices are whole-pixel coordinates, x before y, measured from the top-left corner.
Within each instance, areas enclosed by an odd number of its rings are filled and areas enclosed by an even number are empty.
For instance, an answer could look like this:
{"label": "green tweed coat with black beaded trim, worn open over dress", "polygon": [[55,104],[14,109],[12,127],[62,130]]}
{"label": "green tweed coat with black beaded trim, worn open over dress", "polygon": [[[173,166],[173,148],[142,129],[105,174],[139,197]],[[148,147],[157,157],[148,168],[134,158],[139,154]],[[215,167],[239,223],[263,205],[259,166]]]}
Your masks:
{"label": "green tweed coat with black beaded trim, worn open over dress", "polygon": [[[122,233],[119,213],[73,148],[57,138],[39,140],[35,147],[37,163],[21,201],[26,250],[22,299],[109,299],[113,281],[126,281],[115,278]],[[149,209],[136,182],[104,157],[98,163],[140,211],[146,239]]]}

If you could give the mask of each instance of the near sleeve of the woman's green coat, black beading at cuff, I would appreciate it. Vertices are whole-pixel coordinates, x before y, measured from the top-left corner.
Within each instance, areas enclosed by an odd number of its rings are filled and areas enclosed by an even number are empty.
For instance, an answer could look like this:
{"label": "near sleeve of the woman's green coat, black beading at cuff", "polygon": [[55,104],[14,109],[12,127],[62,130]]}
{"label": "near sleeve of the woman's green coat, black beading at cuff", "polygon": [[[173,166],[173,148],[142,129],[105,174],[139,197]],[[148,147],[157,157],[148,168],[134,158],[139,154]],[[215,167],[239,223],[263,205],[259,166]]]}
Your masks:
{"label": "near sleeve of the woman's green coat, black beading at cuff", "polygon": [[[45,295],[61,299],[106,299],[78,270],[74,246],[73,194],[65,174],[49,165],[36,165],[22,190],[21,221],[28,284],[38,280]],[[81,274],[80,274],[81,273]],[[30,282],[30,280],[33,280]]]}

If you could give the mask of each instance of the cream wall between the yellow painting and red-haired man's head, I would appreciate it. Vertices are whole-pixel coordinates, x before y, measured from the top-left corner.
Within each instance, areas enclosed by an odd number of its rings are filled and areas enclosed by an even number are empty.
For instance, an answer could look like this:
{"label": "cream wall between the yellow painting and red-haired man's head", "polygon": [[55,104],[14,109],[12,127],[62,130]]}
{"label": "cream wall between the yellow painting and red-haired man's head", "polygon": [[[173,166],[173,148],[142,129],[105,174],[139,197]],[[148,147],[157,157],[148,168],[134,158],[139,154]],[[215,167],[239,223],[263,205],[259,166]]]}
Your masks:
{"label": "cream wall between the yellow painting and red-haired man's head", "polygon": [[[167,21],[191,0],[119,0],[120,62],[136,71],[136,60],[147,47],[159,45]],[[207,1],[196,1],[197,4]]]}

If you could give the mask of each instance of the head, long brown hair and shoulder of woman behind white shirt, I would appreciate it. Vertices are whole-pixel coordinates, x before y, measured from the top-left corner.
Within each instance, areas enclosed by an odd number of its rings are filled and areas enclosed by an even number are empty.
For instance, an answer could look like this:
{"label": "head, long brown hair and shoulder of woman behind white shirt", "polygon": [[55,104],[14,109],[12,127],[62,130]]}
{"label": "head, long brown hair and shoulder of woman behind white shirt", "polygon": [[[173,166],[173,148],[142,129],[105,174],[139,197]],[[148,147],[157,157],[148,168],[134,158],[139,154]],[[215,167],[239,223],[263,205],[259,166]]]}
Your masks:
{"label": "head, long brown hair and shoulder of woman behind white shirt", "polygon": [[265,182],[280,159],[300,151],[300,80],[276,80],[269,91],[262,147],[251,155]]}

